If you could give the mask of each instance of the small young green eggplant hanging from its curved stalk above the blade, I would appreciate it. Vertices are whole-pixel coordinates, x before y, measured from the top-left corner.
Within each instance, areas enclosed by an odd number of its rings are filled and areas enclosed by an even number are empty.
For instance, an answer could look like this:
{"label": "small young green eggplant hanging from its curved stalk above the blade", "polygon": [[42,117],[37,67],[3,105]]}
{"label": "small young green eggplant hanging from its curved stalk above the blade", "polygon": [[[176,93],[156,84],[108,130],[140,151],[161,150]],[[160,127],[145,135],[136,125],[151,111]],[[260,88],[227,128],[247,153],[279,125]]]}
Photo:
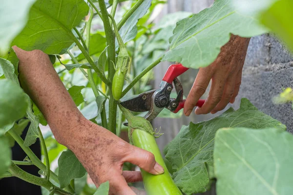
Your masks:
{"label": "small young green eggplant hanging from its curved stalk above the blade", "polygon": [[127,73],[130,57],[128,55],[124,42],[119,34],[114,18],[110,14],[109,14],[109,18],[113,21],[114,31],[117,37],[119,48],[120,48],[120,51],[117,57],[116,72],[115,72],[113,83],[112,83],[113,98],[116,100],[119,100],[121,98],[123,85],[124,85],[124,78]]}

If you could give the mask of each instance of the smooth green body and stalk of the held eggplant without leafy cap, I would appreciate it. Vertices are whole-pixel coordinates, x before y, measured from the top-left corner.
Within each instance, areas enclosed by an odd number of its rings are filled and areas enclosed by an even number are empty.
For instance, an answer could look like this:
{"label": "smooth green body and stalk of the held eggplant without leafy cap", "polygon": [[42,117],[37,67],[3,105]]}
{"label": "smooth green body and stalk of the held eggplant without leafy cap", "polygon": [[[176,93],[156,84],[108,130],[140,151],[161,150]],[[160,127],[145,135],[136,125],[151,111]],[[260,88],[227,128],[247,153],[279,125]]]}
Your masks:
{"label": "smooth green body and stalk of the held eggplant without leafy cap", "polygon": [[[120,104],[119,108],[127,120],[133,117],[131,112]],[[139,129],[131,129],[130,131],[132,131],[133,145],[151,152],[155,156],[156,161],[165,170],[164,174],[152,175],[141,169],[147,195],[182,195],[168,172],[155,137]]]}

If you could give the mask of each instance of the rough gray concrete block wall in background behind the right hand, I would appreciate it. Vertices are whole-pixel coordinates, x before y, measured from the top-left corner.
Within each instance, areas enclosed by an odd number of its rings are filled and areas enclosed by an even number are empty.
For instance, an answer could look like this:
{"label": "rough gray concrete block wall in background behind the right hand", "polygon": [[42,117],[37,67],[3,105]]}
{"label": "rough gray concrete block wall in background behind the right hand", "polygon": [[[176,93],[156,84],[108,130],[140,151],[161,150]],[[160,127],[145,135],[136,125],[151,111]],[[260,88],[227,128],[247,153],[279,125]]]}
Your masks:
{"label": "rough gray concrete block wall in background behind the right hand", "polygon": [[[168,0],[168,4],[163,10],[163,14],[175,11],[190,11],[197,13],[209,7],[213,0]],[[158,17],[159,18],[159,17]],[[163,62],[155,68],[155,86],[161,82],[170,63]],[[189,69],[181,77],[185,96],[191,88],[197,70]],[[287,126],[289,132],[293,133],[293,111],[291,104],[276,105],[272,98],[282,92],[282,88],[293,86],[293,57],[286,48],[273,36],[262,35],[251,38],[248,54],[243,69],[242,85],[234,104],[229,104],[234,109],[239,108],[240,99],[248,98],[262,112],[270,115]],[[203,96],[206,98],[208,91]],[[153,121],[154,127],[164,126],[161,130],[164,136],[157,139],[159,147],[163,150],[164,146],[171,141],[179,132],[183,124],[188,125],[190,121],[196,123],[220,115],[201,115],[192,114],[190,117],[178,119],[156,118]],[[202,195],[215,195],[215,188]]]}

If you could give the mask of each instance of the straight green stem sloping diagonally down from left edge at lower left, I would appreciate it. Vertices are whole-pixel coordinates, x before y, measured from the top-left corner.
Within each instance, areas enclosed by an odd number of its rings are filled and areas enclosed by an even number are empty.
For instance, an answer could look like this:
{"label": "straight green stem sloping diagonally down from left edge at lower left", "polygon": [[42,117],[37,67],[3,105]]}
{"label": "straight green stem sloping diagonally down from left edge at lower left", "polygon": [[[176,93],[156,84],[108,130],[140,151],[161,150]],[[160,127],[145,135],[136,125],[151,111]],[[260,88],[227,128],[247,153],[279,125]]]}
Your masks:
{"label": "straight green stem sloping diagonally down from left edge at lower left", "polygon": [[[23,139],[13,129],[9,130],[8,134],[13,137],[14,140],[21,146],[21,149],[25,152],[34,165],[43,171],[46,170],[46,165],[42,163],[42,161],[33,153],[29,147],[24,146]],[[58,176],[54,172],[51,171],[50,176],[55,182],[59,183]],[[74,194],[74,190],[71,188],[71,186],[67,186],[65,189],[68,190],[68,192]]]}

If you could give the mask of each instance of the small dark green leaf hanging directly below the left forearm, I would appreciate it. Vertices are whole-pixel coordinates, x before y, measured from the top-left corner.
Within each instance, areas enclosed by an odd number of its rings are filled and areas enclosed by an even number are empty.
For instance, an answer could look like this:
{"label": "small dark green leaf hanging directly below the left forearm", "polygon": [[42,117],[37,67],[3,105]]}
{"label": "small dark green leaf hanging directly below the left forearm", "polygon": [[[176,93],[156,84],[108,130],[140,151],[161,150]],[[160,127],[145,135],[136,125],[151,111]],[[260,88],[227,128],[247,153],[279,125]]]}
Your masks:
{"label": "small dark green leaf hanging directly below the left forearm", "polygon": [[86,172],[83,165],[70,150],[61,154],[58,159],[58,166],[58,180],[61,188],[67,186],[71,179],[81,178]]}

